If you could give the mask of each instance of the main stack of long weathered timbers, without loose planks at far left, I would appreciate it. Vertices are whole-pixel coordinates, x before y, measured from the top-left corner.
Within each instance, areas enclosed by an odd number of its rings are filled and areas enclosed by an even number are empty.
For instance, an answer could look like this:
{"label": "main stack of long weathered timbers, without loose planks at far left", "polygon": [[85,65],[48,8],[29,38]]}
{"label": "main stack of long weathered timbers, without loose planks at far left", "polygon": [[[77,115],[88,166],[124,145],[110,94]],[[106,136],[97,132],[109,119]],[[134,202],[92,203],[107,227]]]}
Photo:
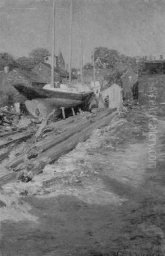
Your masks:
{"label": "main stack of long weathered timbers, without loose planks at far left", "polygon": [[[53,163],[75,148],[79,142],[87,140],[96,128],[108,125],[116,115],[117,112],[108,109],[91,116],[80,115],[55,122],[52,124],[53,131],[39,141],[33,140],[28,150],[8,163],[6,167],[13,171],[26,169],[34,175],[39,174],[46,164]],[[56,129],[61,129],[59,134],[56,134]]]}

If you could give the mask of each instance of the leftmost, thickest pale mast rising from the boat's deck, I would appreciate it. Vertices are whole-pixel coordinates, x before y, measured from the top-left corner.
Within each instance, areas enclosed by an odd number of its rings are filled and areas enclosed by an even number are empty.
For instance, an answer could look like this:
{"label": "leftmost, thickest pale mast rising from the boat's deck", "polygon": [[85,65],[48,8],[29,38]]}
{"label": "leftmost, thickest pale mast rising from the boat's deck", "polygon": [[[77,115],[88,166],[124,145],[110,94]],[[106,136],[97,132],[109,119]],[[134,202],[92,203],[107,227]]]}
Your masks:
{"label": "leftmost, thickest pale mast rising from the boat's deck", "polygon": [[52,43],[52,63],[51,63],[51,87],[54,88],[54,48],[55,48],[55,15],[56,15],[56,3],[53,0],[53,43]]}

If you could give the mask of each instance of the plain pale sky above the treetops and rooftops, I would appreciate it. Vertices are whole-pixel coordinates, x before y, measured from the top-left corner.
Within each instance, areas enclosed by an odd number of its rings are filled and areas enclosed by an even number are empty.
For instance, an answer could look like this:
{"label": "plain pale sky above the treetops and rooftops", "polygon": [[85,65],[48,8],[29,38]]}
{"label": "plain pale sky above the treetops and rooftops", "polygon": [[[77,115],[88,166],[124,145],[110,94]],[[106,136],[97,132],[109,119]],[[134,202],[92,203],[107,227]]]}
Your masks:
{"label": "plain pale sky above the treetops and rooftops", "polygon": [[[0,0],[0,52],[18,58],[32,49],[52,49],[53,0]],[[69,61],[70,0],[56,0],[56,53]],[[130,56],[165,57],[165,0],[73,0],[72,66],[94,47]]]}

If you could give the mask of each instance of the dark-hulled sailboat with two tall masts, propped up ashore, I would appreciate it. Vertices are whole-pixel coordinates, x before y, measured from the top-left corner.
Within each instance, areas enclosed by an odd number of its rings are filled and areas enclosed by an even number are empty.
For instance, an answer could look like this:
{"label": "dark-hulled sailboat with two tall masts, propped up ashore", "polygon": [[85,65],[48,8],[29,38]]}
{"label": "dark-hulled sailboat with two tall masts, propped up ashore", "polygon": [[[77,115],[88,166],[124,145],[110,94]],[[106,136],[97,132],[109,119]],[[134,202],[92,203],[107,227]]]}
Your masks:
{"label": "dark-hulled sailboat with two tall masts, propped up ashore", "polygon": [[[71,58],[72,58],[72,4],[70,5],[70,61],[69,61],[69,83],[71,83]],[[77,92],[76,90],[62,90],[54,87],[54,49],[55,49],[55,14],[56,14],[55,0],[53,0],[53,44],[52,44],[52,64],[51,64],[51,84],[50,87],[44,88],[43,84],[35,86],[26,86],[25,84],[14,84],[17,89],[27,99],[47,99],[57,108],[74,108],[82,105],[85,101],[90,99],[93,92],[84,91]]]}

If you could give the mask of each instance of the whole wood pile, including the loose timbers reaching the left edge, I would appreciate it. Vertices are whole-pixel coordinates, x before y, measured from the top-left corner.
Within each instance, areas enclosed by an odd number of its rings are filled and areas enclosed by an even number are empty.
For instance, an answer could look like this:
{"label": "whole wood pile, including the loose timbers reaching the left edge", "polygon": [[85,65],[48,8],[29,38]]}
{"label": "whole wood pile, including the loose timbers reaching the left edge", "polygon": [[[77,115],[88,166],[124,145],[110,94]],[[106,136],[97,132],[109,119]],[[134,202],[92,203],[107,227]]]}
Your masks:
{"label": "whole wood pile, including the loose timbers reaching the left edge", "polygon": [[[15,134],[8,135],[0,142],[2,147],[31,137],[27,140],[26,150],[6,164],[6,168],[13,172],[6,175],[2,183],[15,177],[17,171],[32,172],[33,175],[41,173],[46,164],[53,163],[79,142],[87,140],[96,128],[109,125],[117,112],[110,109],[97,113],[84,112],[47,125],[52,114],[42,121],[37,130],[14,131]],[[44,129],[48,129],[48,132],[44,133]]]}

